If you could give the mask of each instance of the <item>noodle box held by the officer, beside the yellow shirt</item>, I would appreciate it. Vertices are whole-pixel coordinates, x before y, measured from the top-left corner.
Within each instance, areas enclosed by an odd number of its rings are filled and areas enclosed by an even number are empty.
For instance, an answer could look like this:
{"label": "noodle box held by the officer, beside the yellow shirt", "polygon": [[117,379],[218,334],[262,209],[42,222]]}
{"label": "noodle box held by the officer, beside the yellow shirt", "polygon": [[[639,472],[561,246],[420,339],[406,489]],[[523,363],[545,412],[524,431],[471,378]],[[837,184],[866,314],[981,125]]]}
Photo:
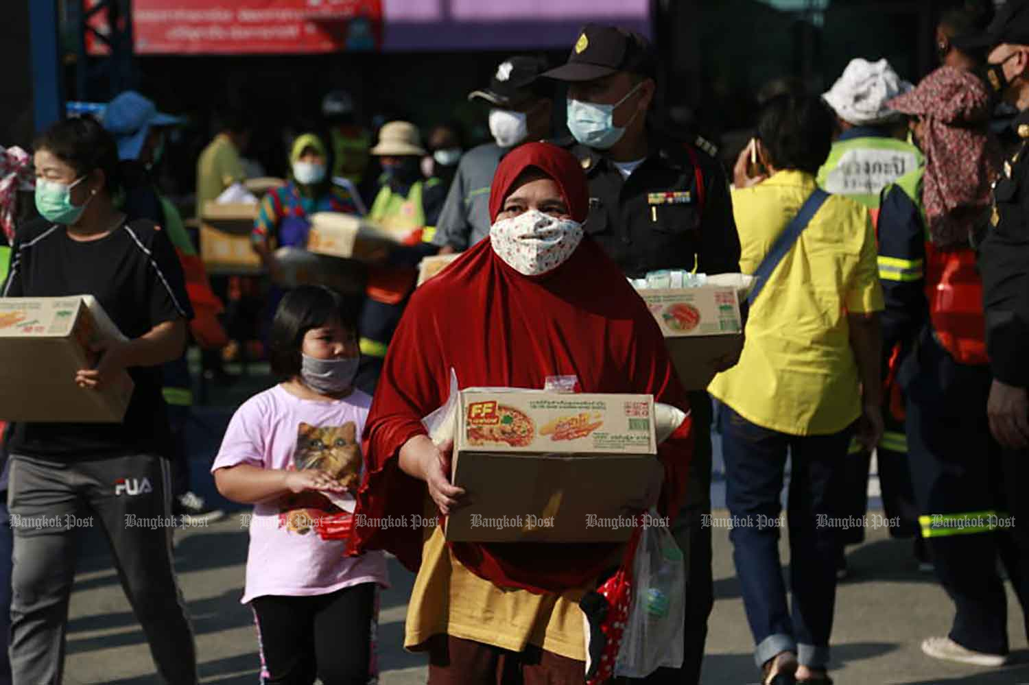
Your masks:
{"label": "noodle box held by the officer, beside the yellow shirt", "polygon": [[686,390],[704,390],[723,358],[743,347],[738,289],[700,286],[638,291],[665,335],[672,364]]}

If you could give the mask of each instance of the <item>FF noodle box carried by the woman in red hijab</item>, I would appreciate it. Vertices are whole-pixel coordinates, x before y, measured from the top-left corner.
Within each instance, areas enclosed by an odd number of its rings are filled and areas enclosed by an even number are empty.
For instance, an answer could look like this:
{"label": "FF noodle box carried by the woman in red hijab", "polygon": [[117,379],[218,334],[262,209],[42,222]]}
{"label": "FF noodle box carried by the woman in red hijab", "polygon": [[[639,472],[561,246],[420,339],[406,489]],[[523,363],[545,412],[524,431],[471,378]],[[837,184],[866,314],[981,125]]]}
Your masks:
{"label": "FF noodle box carried by the woman in red hijab", "polygon": [[620,542],[657,459],[650,395],[465,390],[447,519],[463,542]]}

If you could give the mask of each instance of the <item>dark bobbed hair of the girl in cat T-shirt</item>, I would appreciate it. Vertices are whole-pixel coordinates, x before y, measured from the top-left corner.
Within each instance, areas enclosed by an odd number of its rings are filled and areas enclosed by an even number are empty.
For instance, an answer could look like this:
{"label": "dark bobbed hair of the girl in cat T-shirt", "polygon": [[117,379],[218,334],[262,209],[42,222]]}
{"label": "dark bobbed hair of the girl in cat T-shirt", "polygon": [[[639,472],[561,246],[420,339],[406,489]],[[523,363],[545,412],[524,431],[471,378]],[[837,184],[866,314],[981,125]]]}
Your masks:
{"label": "dark bobbed hair of the girl in cat T-shirt", "polygon": [[357,334],[356,308],[336,291],[324,286],[300,286],[287,292],[275,312],[269,336],[272,371],[286,378],[297,375],[304,336],[332,320]]}

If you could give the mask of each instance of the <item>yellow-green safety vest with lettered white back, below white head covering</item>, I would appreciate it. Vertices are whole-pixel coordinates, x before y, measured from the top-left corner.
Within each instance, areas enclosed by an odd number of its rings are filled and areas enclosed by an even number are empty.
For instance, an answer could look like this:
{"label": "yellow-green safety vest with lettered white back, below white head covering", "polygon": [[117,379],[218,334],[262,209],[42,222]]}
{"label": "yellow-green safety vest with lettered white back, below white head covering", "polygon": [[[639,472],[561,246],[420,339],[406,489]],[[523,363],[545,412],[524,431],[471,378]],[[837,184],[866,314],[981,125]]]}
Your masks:
{"label": "yellow-green safety vest with lettered white back, below white head covering", "polygon": [[917,147],[894,138],[837,141],[818,170],[818,186],[876,210],[883,188],[924,165]]}

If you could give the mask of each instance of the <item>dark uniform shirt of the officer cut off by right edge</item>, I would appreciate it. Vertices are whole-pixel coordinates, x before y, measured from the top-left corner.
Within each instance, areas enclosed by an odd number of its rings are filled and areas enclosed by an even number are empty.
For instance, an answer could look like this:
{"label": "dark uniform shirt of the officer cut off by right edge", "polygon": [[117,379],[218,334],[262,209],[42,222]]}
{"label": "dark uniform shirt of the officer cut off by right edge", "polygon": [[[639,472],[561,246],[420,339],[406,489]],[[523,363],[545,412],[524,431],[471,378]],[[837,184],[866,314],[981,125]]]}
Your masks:
{"label": "dark uniform shirt of the officer cut off by right edge", "polygon": [[1029,112],[1013,125],[1021,143],[993,188],[993,209],[980,246],[986,345],[993,375],[1029,387]]}

